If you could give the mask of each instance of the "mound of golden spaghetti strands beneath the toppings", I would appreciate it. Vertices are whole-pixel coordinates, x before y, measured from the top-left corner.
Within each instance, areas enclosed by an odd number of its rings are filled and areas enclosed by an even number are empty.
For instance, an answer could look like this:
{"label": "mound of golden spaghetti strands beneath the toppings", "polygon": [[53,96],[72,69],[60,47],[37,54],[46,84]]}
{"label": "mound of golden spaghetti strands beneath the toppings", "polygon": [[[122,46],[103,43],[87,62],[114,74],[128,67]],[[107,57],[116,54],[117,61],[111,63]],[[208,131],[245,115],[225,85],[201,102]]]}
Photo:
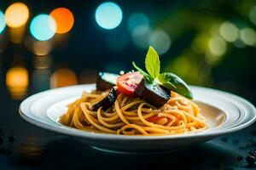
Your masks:
{"label": "mound of golden spaghetti strands beneath the toppings", "polygon": [[83,93],[80,99],[68,105],[60,122],[68,127],[96,132],[124,135],[166,135],[197,133],[207,129],[207,122],[194,102],[171,93],[165,105],[156,108],[143,99],[119,94],[107,111],[92,106],[102,100],[108,91]]}

